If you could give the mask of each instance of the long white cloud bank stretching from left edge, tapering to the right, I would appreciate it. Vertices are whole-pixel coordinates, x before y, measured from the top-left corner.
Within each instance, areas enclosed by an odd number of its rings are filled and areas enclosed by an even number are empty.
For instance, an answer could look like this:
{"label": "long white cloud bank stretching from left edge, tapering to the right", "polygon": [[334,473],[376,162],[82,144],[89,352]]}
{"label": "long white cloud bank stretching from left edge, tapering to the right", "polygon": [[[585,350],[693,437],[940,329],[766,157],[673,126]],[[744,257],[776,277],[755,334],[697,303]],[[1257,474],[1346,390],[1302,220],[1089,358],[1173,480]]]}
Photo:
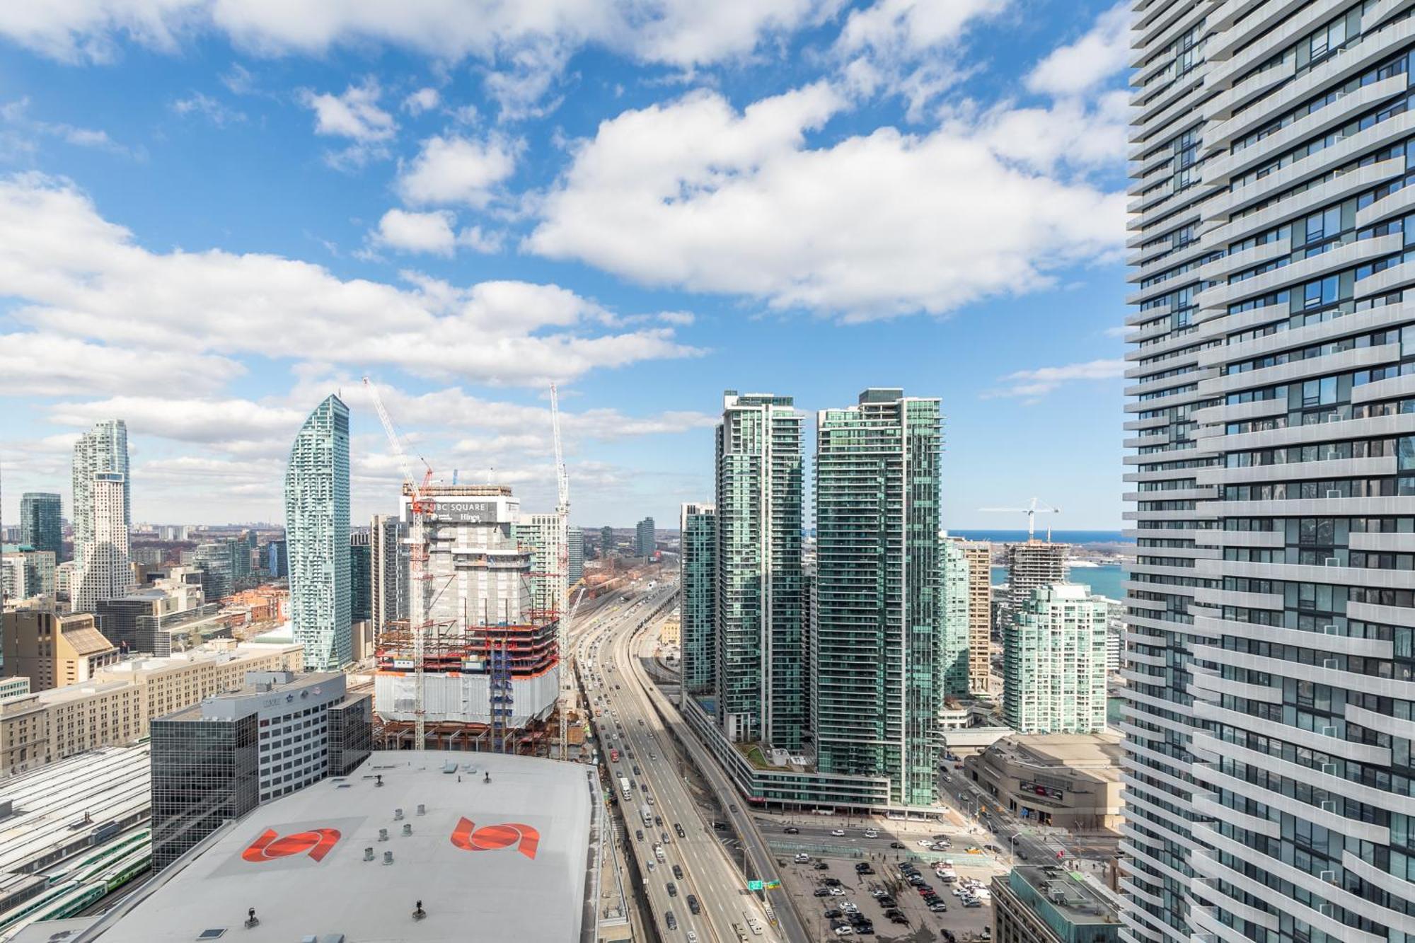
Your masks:
{"label": "long white cloud bank stretching from left edge, tapering to the right", "polygon": [[614,330],[611,313],[555,285],[403,278],[344,280],[276,255],[150,252],[71,184],[0,178],[0,297],[14,300],[13,321],[48,336],[174,355],[317,355],[512,385],[699,353],[671,327]]}

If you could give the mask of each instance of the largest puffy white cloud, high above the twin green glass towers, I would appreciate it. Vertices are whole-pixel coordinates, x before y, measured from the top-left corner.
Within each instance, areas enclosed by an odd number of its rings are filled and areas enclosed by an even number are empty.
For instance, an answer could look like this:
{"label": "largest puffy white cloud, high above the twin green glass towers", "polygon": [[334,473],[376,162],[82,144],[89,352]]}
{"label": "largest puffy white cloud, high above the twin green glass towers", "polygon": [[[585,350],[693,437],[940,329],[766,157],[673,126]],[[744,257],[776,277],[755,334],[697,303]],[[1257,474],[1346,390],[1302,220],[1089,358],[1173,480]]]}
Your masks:
{"label": "largest puffy white cloud, high above the twin green glass towers", "polygon": [[807,147],[845,105],[816,84],[743,112],[709,92],[624,112],[579,144],[524,245],[865,320],[1037,290],[1124,238],[1122,194],[1019,164],[996,115]]}

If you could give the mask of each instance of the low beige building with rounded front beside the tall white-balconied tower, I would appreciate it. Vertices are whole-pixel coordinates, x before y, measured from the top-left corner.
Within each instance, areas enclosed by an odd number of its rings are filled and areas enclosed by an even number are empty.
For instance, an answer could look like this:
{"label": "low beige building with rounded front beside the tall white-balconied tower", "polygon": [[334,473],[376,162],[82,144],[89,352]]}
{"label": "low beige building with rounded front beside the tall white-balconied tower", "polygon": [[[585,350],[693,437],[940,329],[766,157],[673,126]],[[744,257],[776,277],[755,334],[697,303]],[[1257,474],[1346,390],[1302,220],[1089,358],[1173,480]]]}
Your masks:
{"label": "low beige building with rounded front beside the tall white-balconied tower", "polygon": [[1119,733],[1007,736],[964,760],[968,779],[998,806],[1037,825],[1121,827]]}

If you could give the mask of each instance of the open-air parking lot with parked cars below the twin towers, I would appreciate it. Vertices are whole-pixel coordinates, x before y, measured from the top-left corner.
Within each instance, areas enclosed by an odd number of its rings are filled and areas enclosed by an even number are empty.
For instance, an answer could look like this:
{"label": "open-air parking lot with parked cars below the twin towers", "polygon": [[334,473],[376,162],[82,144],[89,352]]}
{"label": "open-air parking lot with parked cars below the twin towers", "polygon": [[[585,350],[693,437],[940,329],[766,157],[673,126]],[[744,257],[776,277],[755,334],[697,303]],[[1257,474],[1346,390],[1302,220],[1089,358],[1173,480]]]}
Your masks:
{"label": "open-air parking lot with parked cars below the twin towers", "polygon": [[[949,885],[938,881],[925,862],[916,861],[914,864],[921,879],[944,901],[947,912],[932,913],[924,906],[923,895],[907,884],[906,874],[900,871],[900,865],[906,862],[884,859],[879,855],[866,859],[809,857],[809,861],[794,861],[795,857],[782,859],[785,889],[795,895],[805,916],[807,929],[821,940],[841,935],[836,929],[839,926],[850,926],[850,930],[843,936],[873,936],[884,943],[940,940],[945,939],[942,930],[949,930],[962,943],[964,940],[982,939],[983,927],[990,932],[992,906],[964,908],[949,891]],[[825,868],[819,868],[819,864],[824,864]],[[859,874],[856,868],[860,865],[867,867],[872,874]],[[962,869],[959,869],[959,875],[964,875]],[[990,879],[990,875],[978,874],[976,876],[983,881]],[[890,908],[876,899],[874,893],[879,892],[887,893],[894,906]],[[870,922],[872,926],[867,930],[860,932],[857,925],[849,923],[848,905],[853,906],[860,918]],[[891,909],[901,913],[906,923],[890,920],[886,912]]]}

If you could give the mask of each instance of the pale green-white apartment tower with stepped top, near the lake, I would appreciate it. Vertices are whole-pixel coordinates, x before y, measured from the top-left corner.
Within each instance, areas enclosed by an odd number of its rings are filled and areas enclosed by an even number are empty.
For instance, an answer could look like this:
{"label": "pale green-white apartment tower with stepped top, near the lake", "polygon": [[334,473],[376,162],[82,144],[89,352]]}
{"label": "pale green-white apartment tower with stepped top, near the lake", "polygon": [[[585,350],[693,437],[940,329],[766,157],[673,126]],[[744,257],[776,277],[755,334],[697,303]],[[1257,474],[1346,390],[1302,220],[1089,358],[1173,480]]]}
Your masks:
{"label": "pale green-white apartment tower with stepped top, near the lake", "polygon": [[1002,715],[1019,733],[1105,729],[1105,602],[1078,583],[1037,586],[1003,627]]}

